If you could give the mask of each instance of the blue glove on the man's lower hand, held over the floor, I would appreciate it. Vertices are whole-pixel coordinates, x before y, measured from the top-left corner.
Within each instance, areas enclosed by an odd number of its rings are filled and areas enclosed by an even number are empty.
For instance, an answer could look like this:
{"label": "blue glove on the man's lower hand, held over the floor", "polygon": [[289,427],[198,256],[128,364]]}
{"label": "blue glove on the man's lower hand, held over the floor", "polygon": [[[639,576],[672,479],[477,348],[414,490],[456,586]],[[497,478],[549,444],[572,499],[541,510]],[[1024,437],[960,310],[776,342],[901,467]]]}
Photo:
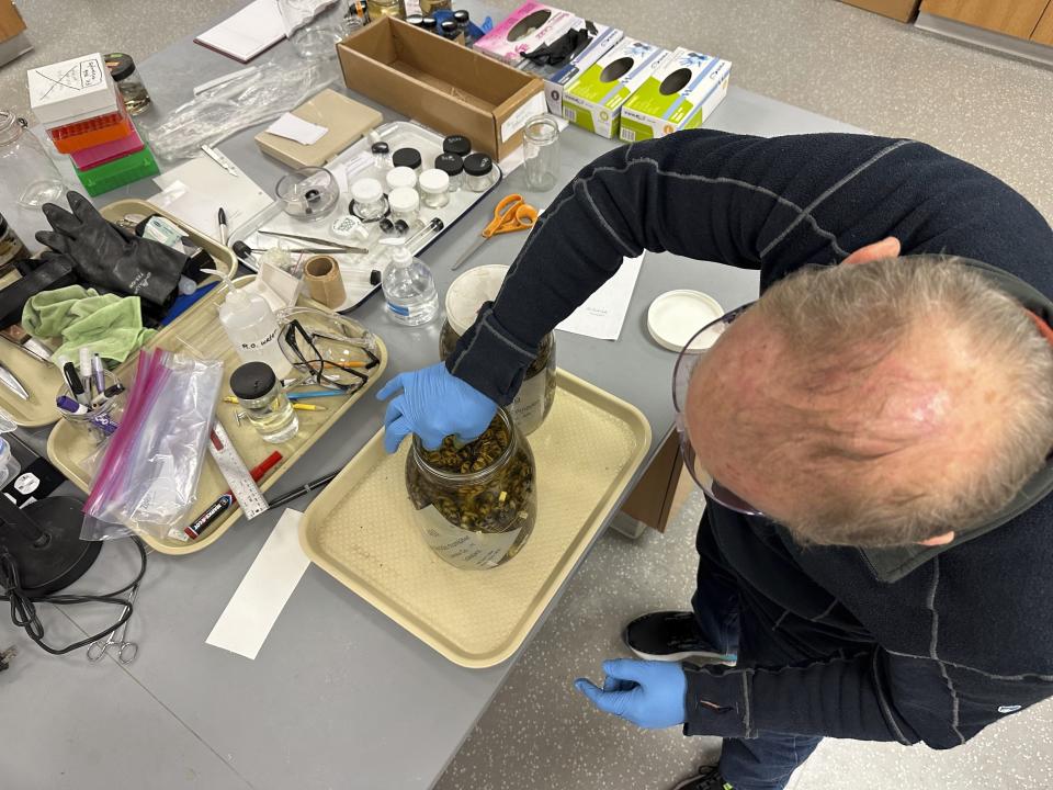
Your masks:
{"label": "blue glove on the man's lower hand, held over the floor", "polygon": [[677,663],[621,658],[603,662],[603,688],[578,678],[575,688],[604,713],[648,730],[683,724],[688,678]]}

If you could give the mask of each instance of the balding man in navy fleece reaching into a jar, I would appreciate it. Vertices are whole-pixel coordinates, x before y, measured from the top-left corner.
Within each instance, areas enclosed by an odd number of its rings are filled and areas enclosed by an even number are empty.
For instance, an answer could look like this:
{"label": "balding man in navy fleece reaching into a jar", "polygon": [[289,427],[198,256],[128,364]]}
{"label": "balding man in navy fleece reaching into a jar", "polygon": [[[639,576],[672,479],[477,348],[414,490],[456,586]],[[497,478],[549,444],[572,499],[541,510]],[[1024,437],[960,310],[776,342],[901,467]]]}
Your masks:
{"label": "balding man in navy fleece reaching into a jar", "polygon": [[450,359],[382,392],[388,448],[482,432],[645,249],[759,269],[761,296],[676,365],[693,611],[631,622],[643,661],[579,690],[722,736],[681,790],[778,790],[825,735],[950,748],[1053,693],[1053,233],[929,146],[702,131],[601,157]]}

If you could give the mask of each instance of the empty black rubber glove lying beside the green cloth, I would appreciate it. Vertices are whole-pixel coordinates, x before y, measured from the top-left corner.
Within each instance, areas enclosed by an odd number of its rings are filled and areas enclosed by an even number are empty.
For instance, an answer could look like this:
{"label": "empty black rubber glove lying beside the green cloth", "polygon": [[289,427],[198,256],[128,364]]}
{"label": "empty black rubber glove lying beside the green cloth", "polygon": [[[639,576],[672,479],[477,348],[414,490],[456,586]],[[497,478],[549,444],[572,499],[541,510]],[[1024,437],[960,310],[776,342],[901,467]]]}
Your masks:
{"label": "empty black rubber glove lying beside the green cloth", "polygon": [[42,207],[54,228],[36,234],[37,241],[50,247],[43,260],[68,260],[78,276],[90,285],[168,305],[190,259],[110,224],[77,192],[67,194],[66,200],[72,214],[54,203]]}

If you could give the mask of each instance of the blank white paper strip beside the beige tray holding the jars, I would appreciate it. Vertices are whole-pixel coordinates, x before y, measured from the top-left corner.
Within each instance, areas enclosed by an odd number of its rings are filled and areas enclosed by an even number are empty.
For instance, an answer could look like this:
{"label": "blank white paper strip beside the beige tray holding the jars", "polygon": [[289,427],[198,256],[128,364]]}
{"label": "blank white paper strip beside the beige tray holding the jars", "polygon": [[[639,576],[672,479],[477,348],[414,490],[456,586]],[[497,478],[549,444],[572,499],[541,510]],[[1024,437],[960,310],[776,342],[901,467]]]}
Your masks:
{"label": "blank white paper strip beside the beige tray holding the jars", "polygon": [[298,510],[278,520],[252,567],[205,640],[214,647],[254,659],[310,560],[299,548]]}

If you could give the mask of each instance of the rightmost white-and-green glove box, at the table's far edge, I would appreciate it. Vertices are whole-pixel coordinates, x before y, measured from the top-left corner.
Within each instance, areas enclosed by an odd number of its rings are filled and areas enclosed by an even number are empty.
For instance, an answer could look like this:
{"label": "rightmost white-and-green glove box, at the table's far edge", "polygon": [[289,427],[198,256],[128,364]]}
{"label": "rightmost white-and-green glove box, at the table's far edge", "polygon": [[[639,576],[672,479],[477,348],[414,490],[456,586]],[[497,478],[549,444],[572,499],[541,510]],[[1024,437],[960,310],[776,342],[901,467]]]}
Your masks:
{"label": "rightmost white-and-green glove box, at the table's far edge", "polygon": [[678,47],[622,106],[626,143],[698,128],[727,95],[732,64]]}

